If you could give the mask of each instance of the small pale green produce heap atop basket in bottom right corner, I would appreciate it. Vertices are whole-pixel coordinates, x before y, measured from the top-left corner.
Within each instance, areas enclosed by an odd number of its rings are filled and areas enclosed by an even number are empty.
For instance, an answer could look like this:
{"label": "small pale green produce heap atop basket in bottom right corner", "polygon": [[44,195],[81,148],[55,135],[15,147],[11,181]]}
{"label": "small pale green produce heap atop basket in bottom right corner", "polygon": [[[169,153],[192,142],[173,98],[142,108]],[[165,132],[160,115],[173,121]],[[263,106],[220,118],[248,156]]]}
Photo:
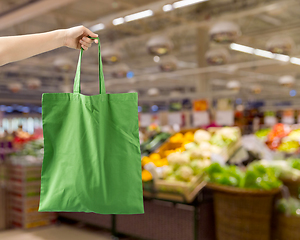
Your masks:
{"label": "small pale green produce heap atop basket in bottom right corner", "polygon": [[288,216],[300,217],[300,200],[296,198],[283,198],[277,203],[277,210]]}

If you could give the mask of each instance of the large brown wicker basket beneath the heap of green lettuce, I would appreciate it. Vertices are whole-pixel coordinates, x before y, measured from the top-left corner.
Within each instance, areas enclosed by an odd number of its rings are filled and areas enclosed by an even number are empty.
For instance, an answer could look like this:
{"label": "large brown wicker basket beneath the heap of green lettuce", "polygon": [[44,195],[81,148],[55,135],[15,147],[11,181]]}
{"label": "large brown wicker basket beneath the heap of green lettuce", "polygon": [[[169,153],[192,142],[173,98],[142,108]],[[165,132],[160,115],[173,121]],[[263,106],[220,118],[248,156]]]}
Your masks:
{"label": "large brown wicker basket beneath the heap of green lettuce", "polygon": [[239,189],[209,183],[214,190],[217,240],[270,240],[271,191]]}

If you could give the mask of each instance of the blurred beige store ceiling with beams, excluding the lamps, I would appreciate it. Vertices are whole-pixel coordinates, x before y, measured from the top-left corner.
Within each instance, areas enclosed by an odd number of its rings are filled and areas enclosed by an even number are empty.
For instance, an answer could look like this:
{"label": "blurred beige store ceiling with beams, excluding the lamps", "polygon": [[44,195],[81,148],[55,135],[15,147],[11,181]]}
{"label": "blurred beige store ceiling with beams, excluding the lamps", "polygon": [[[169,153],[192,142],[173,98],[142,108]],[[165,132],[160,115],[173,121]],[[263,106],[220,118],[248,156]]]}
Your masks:
{"label": "blurred beige store ceiling with beams, excluding the lamps", "polygon": [[[278,84],[278,78],[287,74],[295,76],[298,80],[293,89],[300,95],[299,65],[233,51],[228,44],[209,43],[207,32],[218,21],[233,21],[242,32],[236,43],[258,49],[266,49],[266,42],[274,36],[290,36],[295,41],[291,56],[300,57],[299,1],[210,0],[170,12],[162,11],[162,6],[168,3],[173,1],[1,0],[0,36],[104,23],[105,29],[97,32],[102,49],[118,49],[121,62],[134,72],[133,78],[116,79],[111,74],[113,67],[104,66],[107,92],[136,90],[140,102],[149,103],[202,97],[239,97],[269,102],[292,99],[295,104],[298,102],[297,96],[290,97],[289,88]],[[118,26],[112,24],[115,18],[146,9],[151,9],[154,16]],[[146,43],[155,35],[168,36],[173,42],[171,54],[180,63],[176,71],[161,72],[147,52]],[[228,49],[230,61],[223,66],[208,66],[203,61],[206,50],[219,47]],[[63,92],[64,85],[71,89],[78,54],[77,50],[60,48],[1,67],[0,103],[38,104],[44,92]],[[73,62],[73,69],[64,72],[55,67],[55,60],[62,56]],[[93,46],[84,53],[83,93],[97,94],[97,69],[97,47]],[[26,82],[32,77],[42,81],[40,89],[26,88]],[[240,91],[226,89],[230,80],[242,83]],[[24,87],[12,94],[7,88],[11,82],[22,82]],[[261,94],[251,93],[253,84],[262,86]],[[147,91],[152,87],[159,88],[160,95],[148,96]]]}

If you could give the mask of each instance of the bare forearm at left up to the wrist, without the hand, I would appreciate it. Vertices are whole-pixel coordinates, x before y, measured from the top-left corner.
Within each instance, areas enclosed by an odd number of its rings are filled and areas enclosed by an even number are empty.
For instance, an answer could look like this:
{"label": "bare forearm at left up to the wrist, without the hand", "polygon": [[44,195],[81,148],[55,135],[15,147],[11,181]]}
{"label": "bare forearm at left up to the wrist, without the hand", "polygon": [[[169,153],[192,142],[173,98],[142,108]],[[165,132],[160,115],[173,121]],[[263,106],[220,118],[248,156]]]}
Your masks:
{"label": "bare forearm at left up to the wrist, without the hand", "polygon": [[65,45],[65,30],[0,37],[0,66]]}

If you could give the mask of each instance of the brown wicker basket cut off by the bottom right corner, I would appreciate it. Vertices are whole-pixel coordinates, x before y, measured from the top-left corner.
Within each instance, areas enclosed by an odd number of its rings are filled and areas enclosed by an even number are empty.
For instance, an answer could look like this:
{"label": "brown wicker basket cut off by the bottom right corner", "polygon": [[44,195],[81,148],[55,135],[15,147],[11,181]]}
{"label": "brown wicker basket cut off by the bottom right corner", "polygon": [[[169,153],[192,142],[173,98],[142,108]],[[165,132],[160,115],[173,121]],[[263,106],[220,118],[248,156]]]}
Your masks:
{"label": "brown wicker basket cut off by the bottom right corner", "polygon": [[299,240],[300,217],[278,214],[276,216],[276,239]]}

